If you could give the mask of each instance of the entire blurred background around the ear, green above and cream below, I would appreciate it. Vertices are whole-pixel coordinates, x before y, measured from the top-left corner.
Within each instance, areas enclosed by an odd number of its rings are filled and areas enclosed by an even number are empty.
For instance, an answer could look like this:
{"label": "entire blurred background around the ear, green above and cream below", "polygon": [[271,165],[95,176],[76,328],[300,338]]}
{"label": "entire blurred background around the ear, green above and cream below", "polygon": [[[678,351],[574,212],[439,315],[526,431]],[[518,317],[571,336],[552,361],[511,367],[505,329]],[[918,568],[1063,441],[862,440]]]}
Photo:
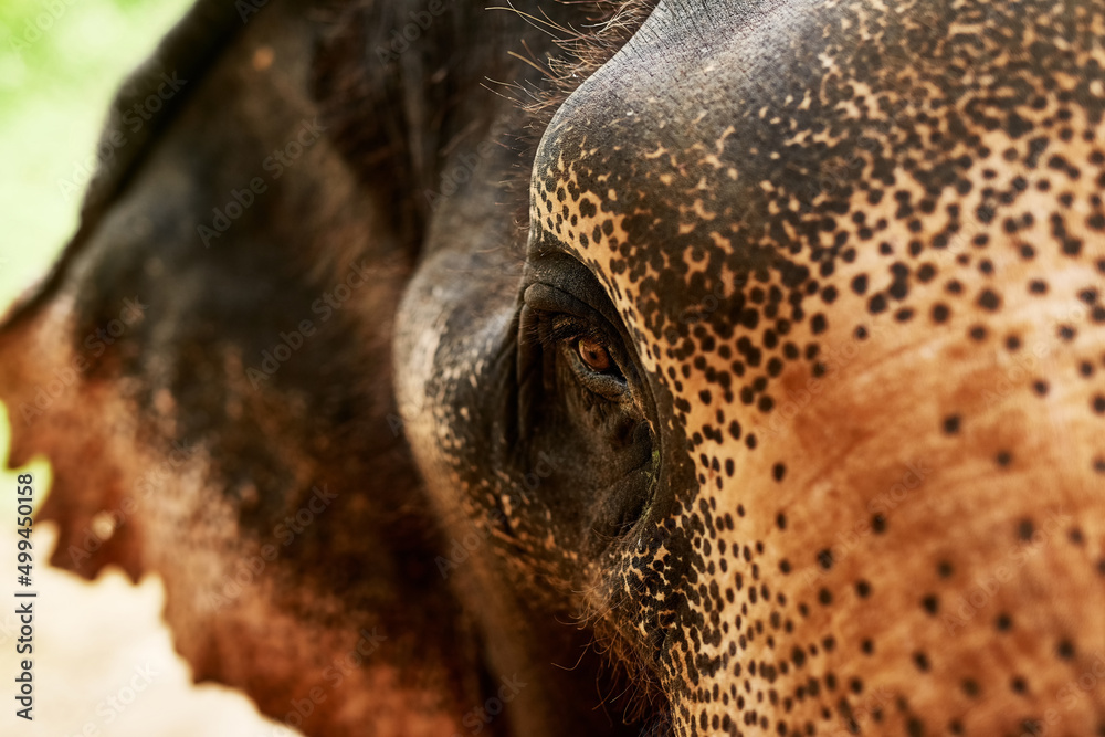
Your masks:
{"label": "entire blurred background around the ear, green above and cream below", "polygon": [[[231,1],[231,0],[228,0]],[[0,0],[0,313],[41,278],[77,224],[83,187],[115,91],[152,52],[190,0]],[[8,418],[0,409],[0,459]],[[6,465],[6,464],[4,464]],[[41,492],[49,468],[28,468]],[[14,577],[15,474],[0,470],[0,571]],[[41,496],[41,494],[40,494]],[[39,499],[41,502],[41,498]],[[160,620],[165,592],[156,577],[133,586],[107,570],[86,583],[46,566],[56,534],[34,528],[35,720],[0,713],[0,735],[67,737],[242,737],[291,735],[260,718],[240,694],[191,684]],[[18,657],[14,601],[0,577],[0,681]],[[104,710],[136,667],[157,673],[126,712]],[[2,692],[10,694],[8,689]],[[7,699],[10,701],[8,695]],[[105,716],[108,715],[108,716]],[[91,729],[91,731],[90,731]]]}

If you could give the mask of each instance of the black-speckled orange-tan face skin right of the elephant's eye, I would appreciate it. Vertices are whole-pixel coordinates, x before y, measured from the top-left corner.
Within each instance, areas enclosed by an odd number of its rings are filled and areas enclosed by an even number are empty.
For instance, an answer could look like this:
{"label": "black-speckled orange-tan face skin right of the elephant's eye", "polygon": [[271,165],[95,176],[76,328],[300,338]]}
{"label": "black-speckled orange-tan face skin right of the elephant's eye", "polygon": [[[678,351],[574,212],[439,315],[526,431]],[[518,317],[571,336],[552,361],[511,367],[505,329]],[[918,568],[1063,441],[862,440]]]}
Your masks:
{"label": "black-speckled orange-tan face skin right of the elephant's eye", "polygon": [[550,125],[532,242],[606,285],[695,468],[592,594],[678,734],[1105,725],[1070,686],[1105,649],[1103,23],[673,7]]}

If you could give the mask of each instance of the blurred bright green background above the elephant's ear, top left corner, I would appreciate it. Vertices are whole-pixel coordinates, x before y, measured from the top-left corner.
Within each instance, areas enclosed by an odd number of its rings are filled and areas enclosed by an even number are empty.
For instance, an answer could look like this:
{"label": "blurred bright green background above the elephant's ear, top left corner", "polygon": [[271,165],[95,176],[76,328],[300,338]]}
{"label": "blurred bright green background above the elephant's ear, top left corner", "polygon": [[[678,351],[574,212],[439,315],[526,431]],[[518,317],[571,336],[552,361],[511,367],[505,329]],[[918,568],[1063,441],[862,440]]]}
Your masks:
{"label": "blurred bright green background above the elephant's ear, top left corner", "polygon": [[[76,227],[64,194],[94,154],[124,75],[187,0],[0,0],[0,303],[43,273]],[[45,30],[42,30],[45,29]],[[94,160],[94,159],[93,159]],[[84,179],[82,179],[84,181]]]}

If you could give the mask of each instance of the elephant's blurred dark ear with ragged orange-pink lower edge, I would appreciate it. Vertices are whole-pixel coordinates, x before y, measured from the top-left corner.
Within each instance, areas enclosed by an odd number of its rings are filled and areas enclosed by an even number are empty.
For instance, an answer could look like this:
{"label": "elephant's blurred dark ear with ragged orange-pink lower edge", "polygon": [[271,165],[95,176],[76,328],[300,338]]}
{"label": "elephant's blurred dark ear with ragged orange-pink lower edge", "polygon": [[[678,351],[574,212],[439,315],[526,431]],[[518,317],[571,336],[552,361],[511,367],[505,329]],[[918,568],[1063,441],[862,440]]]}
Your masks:
{"label": "elephant's blurred dark ear with ragged orange-pink lower edge", "polygon": [[77,233],[0,326],[9,464],[53,465],[54,565],[164,577],[198,678],[277,717],[352,681],[303,728],[449,734],[480,666],[393,409],[400,194],[318,117],[325,12],[254,4],[197,4],[113,104]]}

